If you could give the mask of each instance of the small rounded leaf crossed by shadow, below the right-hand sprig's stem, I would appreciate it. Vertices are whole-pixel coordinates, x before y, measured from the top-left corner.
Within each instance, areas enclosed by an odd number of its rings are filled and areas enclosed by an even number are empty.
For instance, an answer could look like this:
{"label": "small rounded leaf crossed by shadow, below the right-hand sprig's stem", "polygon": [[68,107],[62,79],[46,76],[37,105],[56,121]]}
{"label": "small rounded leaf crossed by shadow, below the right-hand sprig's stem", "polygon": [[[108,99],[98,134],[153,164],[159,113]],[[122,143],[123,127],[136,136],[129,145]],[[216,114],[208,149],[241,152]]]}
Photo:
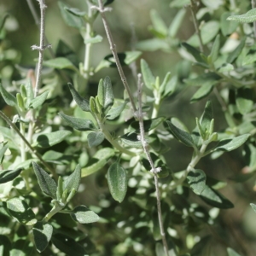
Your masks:
{"label": "small rounded leaf crossed by shadow, below the right-hand sprig's stem", "polygon": [[200,169],[190,171],[187,176],[189,187],[194,191],[196,195],[201,195],[202,191],[206,187],[207,176],[205,172]]}

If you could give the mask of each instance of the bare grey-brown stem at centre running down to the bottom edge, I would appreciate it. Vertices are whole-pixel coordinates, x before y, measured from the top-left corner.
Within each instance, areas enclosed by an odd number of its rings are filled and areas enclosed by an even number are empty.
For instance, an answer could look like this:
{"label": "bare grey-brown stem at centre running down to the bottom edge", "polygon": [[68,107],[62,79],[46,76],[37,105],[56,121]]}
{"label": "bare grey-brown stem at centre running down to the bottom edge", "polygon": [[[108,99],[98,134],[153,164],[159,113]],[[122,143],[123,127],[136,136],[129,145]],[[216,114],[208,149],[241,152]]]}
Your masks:
{"label": "bare grey-brown stem at centre running down to the bottom edge", "polygon": [[160,203],[160,189],[159,189],[159,183],[158,183],[158,177],[157,177],[157,173],[161,171],[160,167],[155,167],[154,166],[154,162],[151,158],[151,155],[149,154],[149,146],[148,143],[145,139],[145,131],[144,131],[144,125],[143,125],[143,102],[142,102],[142,89],[143,89],[143,83],[142,83],[142,74],[138,74],[138,83],[137,83],[137,87],[138,87],[138,110],[137,113],[135,113],[137,115],[137,119],[139,121],[139,125],[140,125],[140,140],[143,144],[143,149],[145,154],[147,155],[148,158],[148,162],[151,166],[151,170],[150,172],[153,172],[154,174],[154,185],[155,185],[155,192],[156,192],[156,201],[157,201],[157,212],[158,212],[158,219],[159,219],[159,225],[160,225],[160,234],[162,237],[162,242],[163,242],[163,246],[164,246],[164,251],[166,253],[166,256],[169,255],[168,253],[168,245],[167,245],[167,241],[166,241],[166,234],[165,234],[165,230],[164,230],[164,225],[163,225],[163,218],[162,218],[162,211],[161,211],[161,203]]}

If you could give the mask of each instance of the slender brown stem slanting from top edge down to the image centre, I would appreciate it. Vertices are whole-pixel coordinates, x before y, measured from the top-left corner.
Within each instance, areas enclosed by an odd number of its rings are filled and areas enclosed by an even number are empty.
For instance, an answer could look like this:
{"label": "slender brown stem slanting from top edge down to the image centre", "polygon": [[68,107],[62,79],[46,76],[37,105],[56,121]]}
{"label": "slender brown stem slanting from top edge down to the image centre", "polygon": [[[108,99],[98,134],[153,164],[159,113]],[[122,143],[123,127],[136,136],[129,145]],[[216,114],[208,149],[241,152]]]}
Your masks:
{"label": "slender brown stem slanting from top edge down to the image centre", "polygon": [[109,11],[110,9],[109,8],[104,8],[102,0],[98,0],[98,4],[99,4],[99,7],[92,6],[91,8],[92,9],[97,9],[100,12],[100,14],[102,15],[103,25],[104,25],[104,28],[105,28],[105,31],[106,31],[106,34],[107,34],[108,43],[110,45],[110,49],[112,51],[114,61],[115,61],[116,66],[119,70],[119,75],[120,75],[121,80],[122,80],[122,82],[125,86],[125,90],[127,91],[128,96],[130,98],[131,107],[133,108],[133,112],[135,113],[137,111],[137,108],[136,108],[135,102],[133,100],[133,96],[131,94],[130,86],[127,83],[127,80],[125,78],[125,73],[124,73],[123,68],[120,64],[119,56],[118,56],[117,50],[116,50],[116,45],[113,43],[113,36],[112,36],[112,33],[111,33],[110,28],[108,26],[108,21],[106,19],[106,15],[105,15],[105,12]]}

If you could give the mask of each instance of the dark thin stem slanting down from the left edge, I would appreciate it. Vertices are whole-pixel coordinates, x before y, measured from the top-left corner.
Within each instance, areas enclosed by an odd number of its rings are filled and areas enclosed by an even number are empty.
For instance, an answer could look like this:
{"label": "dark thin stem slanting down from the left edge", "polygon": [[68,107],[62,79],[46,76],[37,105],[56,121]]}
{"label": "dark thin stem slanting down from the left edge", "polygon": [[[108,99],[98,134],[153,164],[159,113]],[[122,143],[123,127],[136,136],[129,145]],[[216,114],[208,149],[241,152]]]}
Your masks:
{"label": "dark thin stem slanting down from the left edge", "polygon": [[30,149],[31,153],[32,153],[32,154],[35,154],[35,155],[37,156],[38,160],[40,160],[41,163],[49,170],[49,172],[51,172],[52,175],[53,175],[54,177],[56,177],[55,170],[53,170],[53,169],[48,165],[48,163],[47,163],[46,161],[44,161],[44,159],[42,158],[42,156],[41,156],[40,154],[38,154],[38,152],[37,152],[34,148],[32,148],[32,145],[26,140],[26,137],[24,137],[24,136],[21,134],[20,130],[16,127],[16,125],[15,125],[2,111],[0,111],[0,117],[2,117],[2,118],[6,121],[6,123],[7,123],[8,125],[10,125],[10,126],[18,133],[18,135],[20,136],[20,138],[23,140],[23,142],[26,144],[26,146]]}

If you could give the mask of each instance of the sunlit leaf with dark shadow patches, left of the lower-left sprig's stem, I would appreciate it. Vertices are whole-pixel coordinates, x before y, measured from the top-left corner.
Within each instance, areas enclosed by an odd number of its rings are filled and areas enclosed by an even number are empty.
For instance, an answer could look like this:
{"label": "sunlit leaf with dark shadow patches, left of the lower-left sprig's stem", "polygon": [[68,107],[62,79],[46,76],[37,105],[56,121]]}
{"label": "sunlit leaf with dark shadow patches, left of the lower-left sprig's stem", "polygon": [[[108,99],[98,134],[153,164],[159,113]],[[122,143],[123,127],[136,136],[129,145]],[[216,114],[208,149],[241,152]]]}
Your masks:
{"label": "sunlit leaf with dark shadow patches, left of the lower-left sprig's stem", "polygon": [[32,225],[37,222],[35,213],[25,200],[14,197],[6,202],[9,214],[21,224]]}

